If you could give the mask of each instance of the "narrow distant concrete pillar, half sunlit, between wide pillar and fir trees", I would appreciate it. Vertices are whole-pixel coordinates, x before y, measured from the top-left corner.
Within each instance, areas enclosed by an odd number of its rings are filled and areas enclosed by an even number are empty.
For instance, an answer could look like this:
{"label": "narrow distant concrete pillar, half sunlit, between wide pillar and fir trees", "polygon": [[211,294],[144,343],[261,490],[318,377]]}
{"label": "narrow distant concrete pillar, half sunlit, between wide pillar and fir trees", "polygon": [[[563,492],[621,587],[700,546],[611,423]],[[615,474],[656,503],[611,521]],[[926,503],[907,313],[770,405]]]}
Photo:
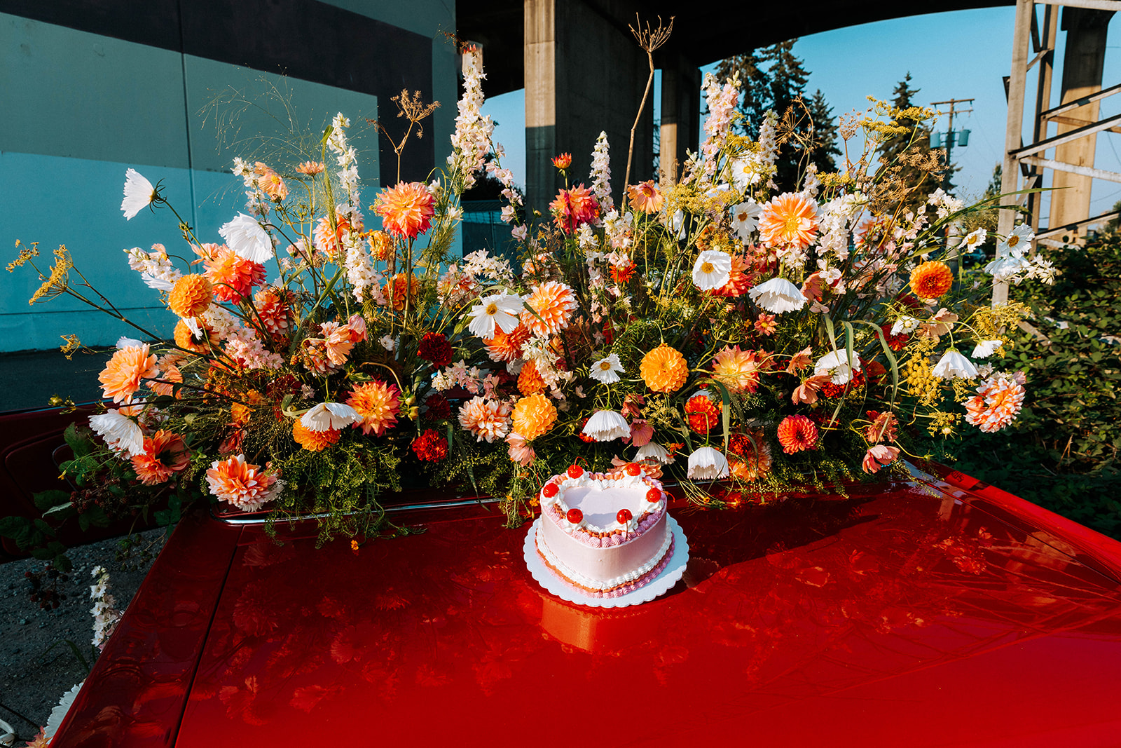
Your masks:
{"label": "narrow distant concrete pillar, half sunlit, between wide pillar and fir trees", "polygon": [[674,184],[685,163],[685,149],[700,148],[701,68],[680,54],[667,54],[661,66],[661,127],[658,170]]}

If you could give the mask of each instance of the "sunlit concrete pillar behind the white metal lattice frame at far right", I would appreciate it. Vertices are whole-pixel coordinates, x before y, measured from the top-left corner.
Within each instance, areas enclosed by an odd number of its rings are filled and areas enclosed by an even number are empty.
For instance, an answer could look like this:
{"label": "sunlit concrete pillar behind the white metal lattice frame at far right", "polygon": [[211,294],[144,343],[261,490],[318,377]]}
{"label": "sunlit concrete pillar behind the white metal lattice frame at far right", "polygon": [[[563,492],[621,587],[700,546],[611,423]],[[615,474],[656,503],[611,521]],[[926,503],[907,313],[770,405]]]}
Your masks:
{"label": "sunlit concrete pillar behind the white metal lattice frame at far right", "polygon": [[[1063,56],[1063,87],[1060,103],[1096,93],[1102,90],[1102,70],[1105,65],[1105,37],[1112,11],[1063,8],[1063,29],[1066,31],[1066,53]],[[1066,112],[1058,122],[1058,133],[1068,132],[1097,121],[1099,102],[1084,104]],[[1097,136],[1086,137],[1055,148],[1055,160],[1075,166],[1094,165]],[[1067,172],[1054,172],[1051,186],[1051,228],[1090,218],[1090,188],[1092,179]],[[1072,231],[1072,236],[1082,231]]]}

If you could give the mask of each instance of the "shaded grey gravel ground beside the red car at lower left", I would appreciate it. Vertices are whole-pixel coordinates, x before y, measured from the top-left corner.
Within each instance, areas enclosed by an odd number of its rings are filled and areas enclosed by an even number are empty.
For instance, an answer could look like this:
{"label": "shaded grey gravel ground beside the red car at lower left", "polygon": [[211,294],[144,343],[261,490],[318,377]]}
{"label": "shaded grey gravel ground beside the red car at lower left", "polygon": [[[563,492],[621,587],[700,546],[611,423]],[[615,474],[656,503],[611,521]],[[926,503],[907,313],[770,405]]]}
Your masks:
{"label": "shaded grey gravel ground beside the red car at lower left", "polygon": [[[74,569],[55,588],[66,595],[56,610],[40,610],[29,598],[33,584],[26,573],[43,572],[46,562],[28,558],[0,565],[0,719],[16,728],[21,740],[30,740],[59,696],[85,678],[85,666],[67,640],[93,664],[91,570],[100,565],[109,571],[109,592],[124,610],[164,539],[164,529],[140,533],[124,557],[121,538],[71,548]],[[49,587],[46,576],[44,582]]]}

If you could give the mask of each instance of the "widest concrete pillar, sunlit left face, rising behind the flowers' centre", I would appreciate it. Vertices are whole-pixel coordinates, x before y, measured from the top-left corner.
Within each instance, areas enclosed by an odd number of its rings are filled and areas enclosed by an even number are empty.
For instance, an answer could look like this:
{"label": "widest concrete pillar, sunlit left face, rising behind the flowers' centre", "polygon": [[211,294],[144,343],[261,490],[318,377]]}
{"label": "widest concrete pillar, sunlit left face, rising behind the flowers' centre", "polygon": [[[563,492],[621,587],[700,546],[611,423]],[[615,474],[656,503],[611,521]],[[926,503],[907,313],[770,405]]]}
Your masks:
{"label": "widest concrete pillar, sunlit left face, rising behind the flowers' centre", "polygon": [[[649,73],[627,25],[637,4],[623,0],[525,0],[526,202],[548,220],[563,181],[552,158],[572,154],[569,179],[591,185],[592,148],[601,131],[611,147],[611,185],[622,195],[630,129]],[[631,182],[654,176],[654,103],[636,131]]]}

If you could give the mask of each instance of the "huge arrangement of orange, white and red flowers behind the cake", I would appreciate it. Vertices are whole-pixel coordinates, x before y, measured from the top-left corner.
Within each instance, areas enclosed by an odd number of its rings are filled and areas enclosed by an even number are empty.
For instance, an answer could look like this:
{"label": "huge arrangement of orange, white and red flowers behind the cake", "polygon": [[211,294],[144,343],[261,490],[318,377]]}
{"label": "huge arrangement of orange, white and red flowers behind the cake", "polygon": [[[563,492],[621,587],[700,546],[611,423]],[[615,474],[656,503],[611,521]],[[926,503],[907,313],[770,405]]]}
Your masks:
{"label": "huge arrangement of orange, white and red flowers behind the cake", "polygon": [[[839,173],[807,168],[799,192],[776,194],[790,136],[775,114],[757,141],[736,135],[738,81],[710,75],[704,141],[679,179],[627,185],[615,203],[601,135],[586,181],[554,159],[566,186],[552,220],[527,225],[466,58],[453,153],[430,183],[367,205],[339,114],[319,160],[235,160],[248,206],[223,243],[180,220],[179,262],[160,244],[126,250],[178,322],[172,341],[120,341],[100,376],[112,403],[90,418],[104,447],[72,477],[115,465],[177,497],[315,512],[326,537],[376,532],[380,497],[416,483],[405,475],[502,497],[515,524],[574,462],[640,462],[721,506],[901,469],[926,435],[1016,417],[1023,377],[985,361],[1026,310],[992,306],[944,260],[946,228],[978,206],[939,190],[907,211],[900,165],[874,156],[932,112],[878,102],[842,122]],[[400,99],[414,124],[432,111]],[[517,262],[452,256],[458,196],[484,172],[506,187]],[[129,169],[124,218],[145,207],[172,206]],[[1031,238],[1001,239],[993,278],[1048,277]],[[33,302],[67,293],[123,320],[56,255]]]}

